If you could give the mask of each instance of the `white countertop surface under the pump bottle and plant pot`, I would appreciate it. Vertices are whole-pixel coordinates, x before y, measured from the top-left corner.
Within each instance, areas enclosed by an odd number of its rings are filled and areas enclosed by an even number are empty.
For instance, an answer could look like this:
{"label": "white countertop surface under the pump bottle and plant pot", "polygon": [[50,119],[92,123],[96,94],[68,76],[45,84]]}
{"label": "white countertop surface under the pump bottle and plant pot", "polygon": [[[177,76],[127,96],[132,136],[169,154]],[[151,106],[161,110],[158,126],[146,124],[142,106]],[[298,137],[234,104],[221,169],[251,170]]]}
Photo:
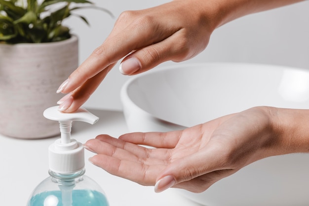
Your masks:
{"label": "white countertop surface under the pump bottle and plant pot", "polygon": [[[90,125],[76,122],[72,137],[84,143],[99,134],[117,137],[128,132],[122,112],[90,110],[100,118]],[[48,146],[59,137],[22,140],[0,134],[0,205],[26,206],[35,187],[48,177]],[[154,193],[154,187],[141,186],[116,177],[90,164],[93,154],[85,151],[86,175],[101,185],[110,206],[198,206],[175,189]]]}

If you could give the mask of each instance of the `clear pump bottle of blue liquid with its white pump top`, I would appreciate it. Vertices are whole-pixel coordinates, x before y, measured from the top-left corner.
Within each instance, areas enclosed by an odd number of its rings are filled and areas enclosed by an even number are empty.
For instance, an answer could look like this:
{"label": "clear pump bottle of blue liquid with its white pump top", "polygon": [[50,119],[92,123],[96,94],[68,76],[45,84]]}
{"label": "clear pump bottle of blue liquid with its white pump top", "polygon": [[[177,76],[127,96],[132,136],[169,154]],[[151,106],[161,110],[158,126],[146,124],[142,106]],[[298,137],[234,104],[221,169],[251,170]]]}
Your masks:
{"label": "clear pump bottle of blue liquid with its white pump top", "polygon": [[98,117],[79,108],[74,113],[62,113],[58,106],[43,113],[50,120],[59,121],[61,138],[49,150],[49,177],[31,194],[27,206],[109,206],[102,188],[84,175],[84,148],[71,139],[73,121],[94,124]]}

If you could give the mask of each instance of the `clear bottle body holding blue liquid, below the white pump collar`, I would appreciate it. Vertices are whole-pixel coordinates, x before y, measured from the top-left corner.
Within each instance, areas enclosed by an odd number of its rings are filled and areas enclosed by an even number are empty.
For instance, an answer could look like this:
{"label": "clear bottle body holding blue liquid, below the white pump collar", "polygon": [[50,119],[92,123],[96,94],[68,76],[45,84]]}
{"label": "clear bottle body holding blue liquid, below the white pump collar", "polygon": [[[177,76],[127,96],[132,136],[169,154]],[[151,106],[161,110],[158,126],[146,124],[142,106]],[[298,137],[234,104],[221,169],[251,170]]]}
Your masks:
{"label": "clear bottle body holding blue liquid, below the white pump collar", "polygon": [[85,169],[72,174],[59,174],[49,170],[33,191],[27,206],[109,206],[102,188]]}

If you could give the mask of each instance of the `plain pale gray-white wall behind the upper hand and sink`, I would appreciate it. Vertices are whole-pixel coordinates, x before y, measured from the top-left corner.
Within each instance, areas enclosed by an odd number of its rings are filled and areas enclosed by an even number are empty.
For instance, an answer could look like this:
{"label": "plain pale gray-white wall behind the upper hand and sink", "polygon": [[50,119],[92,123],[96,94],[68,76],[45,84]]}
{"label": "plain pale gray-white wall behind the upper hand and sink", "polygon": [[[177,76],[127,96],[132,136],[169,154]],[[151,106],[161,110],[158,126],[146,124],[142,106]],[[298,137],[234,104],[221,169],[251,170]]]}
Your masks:
{"label": "plain pale gray-white wall behind the upper hand and sink", "polygon": [[[85,60],[111,32],[122,11],[159,5],[168,0],[93,0],[109,9],[108,14],[87,9],[78,13],[85,16],[90,27],[72,17],[65,23],[79,37],[79,63]],[[249,62],[309,68],[309,1],[251,14],[218,28],[208,47],[188,62]],[[176,64],[167,62],[158,67]],[[130,77],[118,71],[109,73],[85,107],[121,110],[119,91]]]}

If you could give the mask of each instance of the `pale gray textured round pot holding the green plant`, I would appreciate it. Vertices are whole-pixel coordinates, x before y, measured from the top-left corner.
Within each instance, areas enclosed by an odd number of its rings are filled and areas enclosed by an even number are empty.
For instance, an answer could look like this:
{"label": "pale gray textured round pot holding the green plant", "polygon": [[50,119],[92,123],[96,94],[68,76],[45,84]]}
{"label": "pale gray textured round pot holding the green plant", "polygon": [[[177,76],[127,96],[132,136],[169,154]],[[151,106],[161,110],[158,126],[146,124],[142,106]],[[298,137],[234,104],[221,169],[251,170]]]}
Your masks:
{"label": "pale gray textured round pot holding the green plant", "polygon": [[38,139],[59,134],[43,117],[62,95],[58,86],[78,66],[78,38],[51,43],[0,44],[0,133]]}

